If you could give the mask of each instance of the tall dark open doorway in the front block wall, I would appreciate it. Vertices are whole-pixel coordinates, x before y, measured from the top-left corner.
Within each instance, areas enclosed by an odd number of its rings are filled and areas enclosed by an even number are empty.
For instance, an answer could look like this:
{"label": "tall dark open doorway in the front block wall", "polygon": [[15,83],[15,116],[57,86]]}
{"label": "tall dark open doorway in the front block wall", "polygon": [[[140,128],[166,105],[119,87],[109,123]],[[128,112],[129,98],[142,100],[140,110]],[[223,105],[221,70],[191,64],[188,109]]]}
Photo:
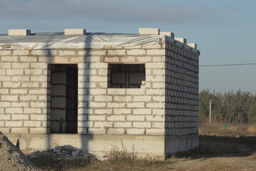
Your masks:
{"label": "tall dark open doorway in the front block wall", "polygon": [[50,133],[78,132],[78,68],[76,64],[50,64]]}

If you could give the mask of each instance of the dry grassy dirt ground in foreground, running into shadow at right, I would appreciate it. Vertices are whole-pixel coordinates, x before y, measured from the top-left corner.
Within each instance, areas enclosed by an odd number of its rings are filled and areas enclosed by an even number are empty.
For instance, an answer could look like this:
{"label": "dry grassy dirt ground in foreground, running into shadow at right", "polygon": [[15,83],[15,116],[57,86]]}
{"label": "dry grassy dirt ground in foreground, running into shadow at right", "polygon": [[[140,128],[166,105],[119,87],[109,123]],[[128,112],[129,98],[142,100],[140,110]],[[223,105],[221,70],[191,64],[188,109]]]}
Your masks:
{"label": "dry grassy dirt ground in foreground, running into shadow at right", "polygon": [[[165,161],[132,160],[120,157],[118,160],[90,162],[61,161],[48,157],[34,158],[32,162],[43,170],[88,170],[88,171],[256,171],[256,137],[218,137],[200,135],[200,147],[190,152],[180,152]],[[49,161],[47,161],[49,160]]]}

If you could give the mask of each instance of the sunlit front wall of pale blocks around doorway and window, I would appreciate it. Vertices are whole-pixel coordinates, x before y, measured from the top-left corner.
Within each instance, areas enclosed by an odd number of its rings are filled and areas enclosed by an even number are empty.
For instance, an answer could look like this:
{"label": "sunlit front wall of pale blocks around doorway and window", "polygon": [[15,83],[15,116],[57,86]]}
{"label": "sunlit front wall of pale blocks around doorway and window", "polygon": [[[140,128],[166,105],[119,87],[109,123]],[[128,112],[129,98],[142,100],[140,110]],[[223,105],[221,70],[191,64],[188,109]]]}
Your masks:
{"label": "sunlit front wall of pale blocks around doorway and window", "polygon": [[[49,133],[48,63],[78,64],[78,134],[164,135],[165,45],[1,50],[0,130]],[[108,88],[108,63],[145,63],[141,88]]]}

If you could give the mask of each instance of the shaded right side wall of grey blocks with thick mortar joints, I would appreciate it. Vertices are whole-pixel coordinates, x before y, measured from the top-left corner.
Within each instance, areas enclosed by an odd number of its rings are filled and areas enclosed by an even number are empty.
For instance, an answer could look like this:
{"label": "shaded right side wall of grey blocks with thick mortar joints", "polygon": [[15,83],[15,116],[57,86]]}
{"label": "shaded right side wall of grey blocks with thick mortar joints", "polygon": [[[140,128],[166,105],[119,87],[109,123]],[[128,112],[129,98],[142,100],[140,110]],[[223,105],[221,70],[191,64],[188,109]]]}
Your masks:
{"label": "shaded right side wall of grey blocks with thick mortar joints", "polygon": [[199,53],[165,46],[165,135],[198,135]]}

